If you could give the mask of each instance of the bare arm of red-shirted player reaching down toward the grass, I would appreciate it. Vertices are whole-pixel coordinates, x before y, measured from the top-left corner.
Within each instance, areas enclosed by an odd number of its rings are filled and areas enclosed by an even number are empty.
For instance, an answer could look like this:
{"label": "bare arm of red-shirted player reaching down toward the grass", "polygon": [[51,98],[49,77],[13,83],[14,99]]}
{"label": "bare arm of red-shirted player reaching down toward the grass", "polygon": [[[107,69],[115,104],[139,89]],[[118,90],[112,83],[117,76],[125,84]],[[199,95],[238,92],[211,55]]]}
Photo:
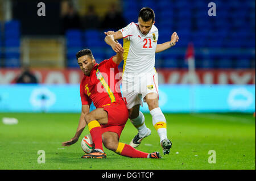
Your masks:
{"label": "bare arm of red-shirted player reaching down toward the grass", "polygon": [[86,113],[89,113],[89,111],[90,111],[89,105],[82,105],[82,112],[81,112],[81,116],[79,119],[79,125],[77,127],[76,134],[73,138],[71,138],[71,140],[63,142],[62,146],[73,145],[77,142],[77,140],[79,140],[79,137],[80,137],[82,131],[84,131],[84,128],[86,127],[86,122],[84,120],[84,116],[86,115]]}

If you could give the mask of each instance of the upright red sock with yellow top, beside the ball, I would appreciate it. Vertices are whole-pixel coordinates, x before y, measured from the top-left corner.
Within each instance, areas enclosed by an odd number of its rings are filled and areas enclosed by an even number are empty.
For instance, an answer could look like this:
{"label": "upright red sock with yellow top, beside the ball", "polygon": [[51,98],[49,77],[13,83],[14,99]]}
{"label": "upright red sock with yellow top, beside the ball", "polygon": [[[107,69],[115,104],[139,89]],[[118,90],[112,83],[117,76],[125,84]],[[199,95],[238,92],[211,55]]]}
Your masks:
{"label": "upright red sock with yellow top, beside the ball", "polygon": [[90,136],[92,136],[95,149],[101,149],[103,151],[100,123],[98,123],[96,120],[90,121],[88,128]]}

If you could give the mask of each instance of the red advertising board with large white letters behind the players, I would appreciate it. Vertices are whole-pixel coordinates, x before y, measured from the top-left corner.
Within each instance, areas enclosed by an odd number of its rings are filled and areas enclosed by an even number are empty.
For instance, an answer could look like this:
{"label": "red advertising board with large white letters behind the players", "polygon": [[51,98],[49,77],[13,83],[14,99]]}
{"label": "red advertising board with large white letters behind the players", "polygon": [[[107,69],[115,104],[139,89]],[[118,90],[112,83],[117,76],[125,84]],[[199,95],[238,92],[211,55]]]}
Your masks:
{"label": "red advertising board with large white letters behind the players", "polygon": [[[61,69],[61,70],[32,70],[40,83],[47,84],[77,84],[82,79],[79,69]],[[2,69],[0,70],[0,84],[14,83],[15,78],[20,73],[19,69]],[[187,70],[158,70],[159,84],[187,84],[189,81]],[[197,70],[193,83],[199,84],[254,84],[255,70]]]}

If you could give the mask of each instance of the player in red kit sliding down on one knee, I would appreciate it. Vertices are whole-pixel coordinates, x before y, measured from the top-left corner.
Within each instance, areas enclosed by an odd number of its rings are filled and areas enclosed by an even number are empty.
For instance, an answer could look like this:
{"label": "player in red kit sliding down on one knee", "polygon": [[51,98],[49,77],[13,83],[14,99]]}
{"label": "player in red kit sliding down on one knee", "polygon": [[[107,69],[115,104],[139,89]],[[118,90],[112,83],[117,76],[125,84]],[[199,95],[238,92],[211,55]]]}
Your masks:
{"label": "player in red kit sliding down on one knee", "polygon": [[[125,157],[161,158],[159,152],[144,153],[119,142],[121,132],[129,117],[118,84],[121,82],[119,80],[121,75],[118,77],[118,65],[123,60],[122,51],[100,64],[96,63],[90,49],[80,50],[76,57],[84,73],[84,78],[80,83],[82,112],[75,137],[63,142],[62,145],[75,144],[88,125],[95,148],[92,153],[85,154],[82,158],[106,158],[102,143],[107,149]],[[92,102],[96,110],[89,112]]]}

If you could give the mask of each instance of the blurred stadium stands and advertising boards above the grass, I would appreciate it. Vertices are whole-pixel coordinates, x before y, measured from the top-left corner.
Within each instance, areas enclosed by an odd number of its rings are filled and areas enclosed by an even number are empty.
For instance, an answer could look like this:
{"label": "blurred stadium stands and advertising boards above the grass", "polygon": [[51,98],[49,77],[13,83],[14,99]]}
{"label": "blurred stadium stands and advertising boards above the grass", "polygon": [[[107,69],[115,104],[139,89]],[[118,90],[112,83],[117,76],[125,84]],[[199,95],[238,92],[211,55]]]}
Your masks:
{"label": "blurred stadium stands and advertising boards above the grass", "polygon": [[[97,62],[110,58],[114,52],[104,31],[137,22],[145,6],[155,11],[158,43],[174,31],[180,37],[175,47],[156,54],[164,112],[255,111],[255,1],[216,0],[216,16],[208,15],[206,1],[46,0],[46,16],[38,16],[39,2],[0,0],[1,112],[79,112],[76,52],[90,48]],[[106,18],[109,11],[117,13]],[[185,60],[189,44],[195,74]],[[38,85],[16,87],[24,65]]]}

